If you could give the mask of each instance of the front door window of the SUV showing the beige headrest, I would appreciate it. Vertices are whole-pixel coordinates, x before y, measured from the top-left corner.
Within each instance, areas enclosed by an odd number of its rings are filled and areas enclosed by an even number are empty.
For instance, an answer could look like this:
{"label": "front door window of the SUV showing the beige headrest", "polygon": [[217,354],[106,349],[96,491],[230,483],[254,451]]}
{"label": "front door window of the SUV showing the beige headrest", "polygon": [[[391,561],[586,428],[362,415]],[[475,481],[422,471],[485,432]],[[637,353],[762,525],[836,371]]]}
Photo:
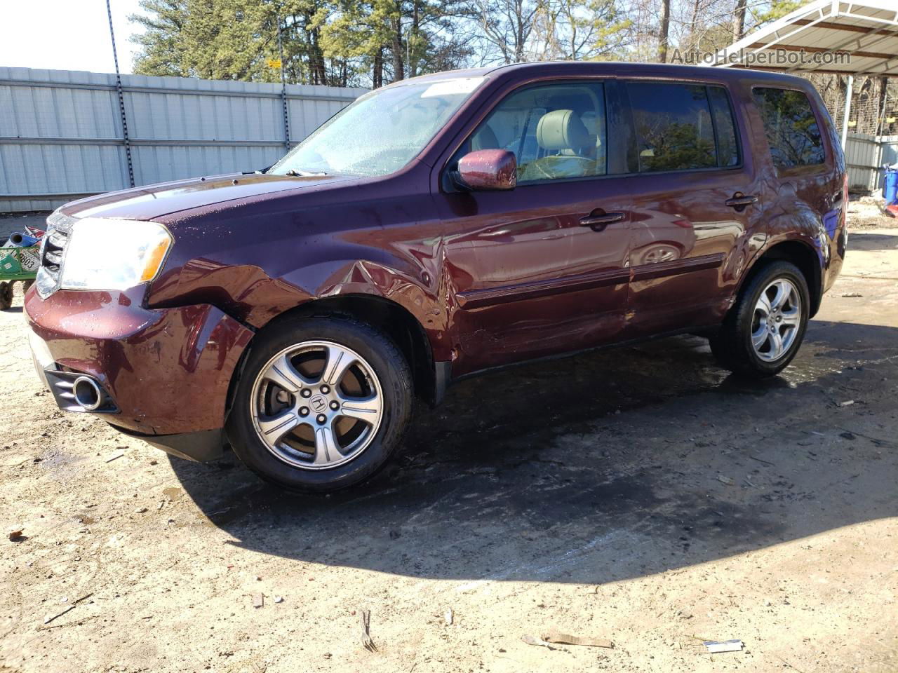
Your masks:
{"label": "front door window of the SUV showing the beige headrest", "polygon": [[602,83],[557,83],[510,94],[471,135],[468,150],[515,153],[517,179],[586,178],[607,171]]}

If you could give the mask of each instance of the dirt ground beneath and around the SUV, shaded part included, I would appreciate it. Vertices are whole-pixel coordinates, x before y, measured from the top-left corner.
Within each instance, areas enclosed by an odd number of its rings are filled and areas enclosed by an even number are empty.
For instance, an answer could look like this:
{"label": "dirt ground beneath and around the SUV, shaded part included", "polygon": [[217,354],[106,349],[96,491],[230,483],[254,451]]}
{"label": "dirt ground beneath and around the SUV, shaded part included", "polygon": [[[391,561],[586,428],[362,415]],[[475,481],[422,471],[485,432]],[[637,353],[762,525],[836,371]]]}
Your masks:
{"label": "dirt ground beneath and around the SUV, shaded part included", "polygon": [[[777,379],[678,337],[469,380],[330,497],[59,412],[20,298],[0,314],[0,521],[23,531],[0,538],[0,669],[894,673],[898,229],[849,249]],[[614,647],[521,640],[550,629]],[[701,645],[728,639],[744,650]]]}

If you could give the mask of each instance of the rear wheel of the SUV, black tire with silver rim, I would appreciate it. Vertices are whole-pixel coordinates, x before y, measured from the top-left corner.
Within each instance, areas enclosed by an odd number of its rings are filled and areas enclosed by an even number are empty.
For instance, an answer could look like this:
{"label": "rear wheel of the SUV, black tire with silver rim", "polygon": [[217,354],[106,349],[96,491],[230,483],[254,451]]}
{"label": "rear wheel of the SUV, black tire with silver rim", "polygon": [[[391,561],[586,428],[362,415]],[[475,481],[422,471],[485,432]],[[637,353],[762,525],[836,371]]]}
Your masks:
{"label": "rear wheel of the SUV, black tire with silver rim", "polygon": [[[778,304],[780,291],[788,296]],[[710,337],[711,352],[723,367],[740,376],[775,376],[797,354],[810,308],[807,281],[794,264],[765,264],[745,284],[718,334]]]}

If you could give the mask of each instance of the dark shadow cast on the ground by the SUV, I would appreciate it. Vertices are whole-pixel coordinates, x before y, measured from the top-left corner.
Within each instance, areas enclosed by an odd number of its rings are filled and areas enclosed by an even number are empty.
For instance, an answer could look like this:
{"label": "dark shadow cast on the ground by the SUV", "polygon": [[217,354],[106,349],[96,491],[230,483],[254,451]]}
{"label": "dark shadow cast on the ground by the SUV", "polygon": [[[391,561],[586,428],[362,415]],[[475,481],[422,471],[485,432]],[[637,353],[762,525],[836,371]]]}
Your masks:
{"label": "dark shadow cast on the ground by the SUV", "polygon": [[896,514],[894,426],[872,415],[894,409],[875,391],[896,337],[814,321],[795,363],[755,382],[699,337],[466,380],[381,475],[330,496],[233,458],[172,468],[229,544],[265,554],[466,581],[664,572]]}

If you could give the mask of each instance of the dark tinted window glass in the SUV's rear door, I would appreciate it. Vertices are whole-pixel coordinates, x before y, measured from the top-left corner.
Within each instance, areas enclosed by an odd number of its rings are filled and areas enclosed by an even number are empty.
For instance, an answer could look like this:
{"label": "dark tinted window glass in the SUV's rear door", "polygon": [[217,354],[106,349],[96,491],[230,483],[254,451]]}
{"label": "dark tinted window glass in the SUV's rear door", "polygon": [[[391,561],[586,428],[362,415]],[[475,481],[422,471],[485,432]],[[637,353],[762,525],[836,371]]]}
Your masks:
{"label": "dark tinted window glass in the SUV's rear door", "polygon": [[704,84],[630,82],[627,92],[636,125],[640,173],[718,166]]}

